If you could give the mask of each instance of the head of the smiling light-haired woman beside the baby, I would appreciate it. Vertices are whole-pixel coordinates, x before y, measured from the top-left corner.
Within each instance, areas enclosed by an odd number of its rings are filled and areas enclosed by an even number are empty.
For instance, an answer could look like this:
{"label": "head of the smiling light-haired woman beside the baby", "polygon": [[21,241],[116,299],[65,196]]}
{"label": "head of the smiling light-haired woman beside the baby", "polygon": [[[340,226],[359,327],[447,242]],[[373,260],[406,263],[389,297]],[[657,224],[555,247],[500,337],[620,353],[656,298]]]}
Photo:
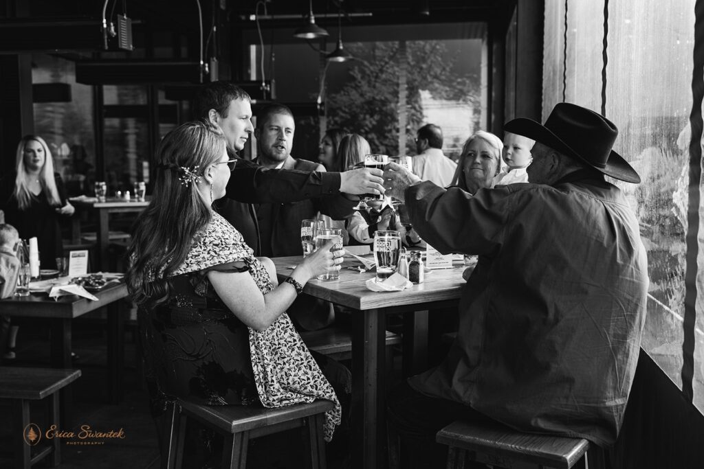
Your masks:
{"label": "head of the smiling light-haired woman beside the baby", "polygon": [[452,186],[474,194],[481,188],[494,187],[494,178],[501,172],[503,142],[491,132],[479,130],[462,148]]}

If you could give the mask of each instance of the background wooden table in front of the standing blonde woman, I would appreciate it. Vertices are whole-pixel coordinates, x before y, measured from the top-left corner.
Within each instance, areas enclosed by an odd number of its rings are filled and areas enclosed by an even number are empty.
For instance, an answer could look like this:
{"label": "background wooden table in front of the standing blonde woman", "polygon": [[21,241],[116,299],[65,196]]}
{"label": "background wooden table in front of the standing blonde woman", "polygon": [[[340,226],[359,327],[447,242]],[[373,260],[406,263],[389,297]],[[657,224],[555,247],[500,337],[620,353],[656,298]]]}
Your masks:
{"label": "background wooden table in front of the standing blonde woman", "polygon": [[[110,244],[110,215],[114,213],[142,212],[149,205],[149,200],[130,200],[122,198],[106,198],[99,202],[96,198],[73,198],[71,203],[77,210],[94,211],[98,216],[96,229],[96,265],[106,271],[108,266],[108,245]],[[81,243],[80,217],[71,217],[71,242]]]}

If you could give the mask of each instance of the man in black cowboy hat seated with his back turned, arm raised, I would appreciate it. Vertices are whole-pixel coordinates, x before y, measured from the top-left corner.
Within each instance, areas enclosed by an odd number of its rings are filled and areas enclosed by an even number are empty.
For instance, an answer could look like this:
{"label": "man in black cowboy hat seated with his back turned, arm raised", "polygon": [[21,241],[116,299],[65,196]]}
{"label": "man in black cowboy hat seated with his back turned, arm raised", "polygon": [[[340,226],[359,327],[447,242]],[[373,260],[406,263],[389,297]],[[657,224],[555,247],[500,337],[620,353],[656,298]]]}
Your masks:
{"label": "man in black cowboy hat seated with his back turned, arm raised", "polygon": [[536,141],[529,183],[472,196],[393,164],[384,172],[386,194],[406,201],[427,243],[479,255],[448,356],[389,397],[417,467],[443,460],[435,432],[458,418],[610,446],[626,409],[647,262],[634,212],[604,174],[640,178],[611,150],[615,125],[591,110],[560,103],[544,125],[504,129]]}

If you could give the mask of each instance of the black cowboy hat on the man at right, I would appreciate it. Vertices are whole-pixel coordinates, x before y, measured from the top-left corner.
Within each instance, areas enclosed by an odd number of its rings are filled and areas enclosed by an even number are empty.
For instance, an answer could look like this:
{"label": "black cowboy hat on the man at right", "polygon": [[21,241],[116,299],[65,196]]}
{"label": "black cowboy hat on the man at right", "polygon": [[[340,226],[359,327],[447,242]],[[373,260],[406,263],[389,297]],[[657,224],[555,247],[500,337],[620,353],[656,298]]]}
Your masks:
{"label": "black cowboy hat on the man at right", "polygon": [[545,125],[520,118],[506,122],[503,129],[577,158],[607,176],[636,184],[641,182],[636,170],[611,149],[618,135],[616,126],[592,110],[558,103]]}

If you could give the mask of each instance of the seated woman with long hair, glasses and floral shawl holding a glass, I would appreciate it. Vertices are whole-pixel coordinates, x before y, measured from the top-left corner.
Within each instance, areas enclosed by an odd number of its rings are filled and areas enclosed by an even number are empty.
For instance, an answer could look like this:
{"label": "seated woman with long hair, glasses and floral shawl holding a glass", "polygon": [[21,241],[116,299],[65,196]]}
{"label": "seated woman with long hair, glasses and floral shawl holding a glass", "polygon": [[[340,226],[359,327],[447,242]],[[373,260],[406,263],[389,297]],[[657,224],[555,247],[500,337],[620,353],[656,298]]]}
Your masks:
{"label": "seated woman with long hair, glasses and floral shawl holding a glass", "polygon": [[[152,200],[127,250],[125,281],[139,308],[157,426],[175,398],[266,407],[329,399],[337,404],[325,416],[329,441],[340,423],[336,392],[285,311],[310,278],[339,269],[343,251],[331,252],[331,240],[279,284],[273,262],[254,257],[212,209],[235,164],[214,124],[189,122],[170,131],[156,163]],[[184,467],[213,456],[211,438],[204,432],[187,438],[196,447],[186,451],[194,461]]]}

